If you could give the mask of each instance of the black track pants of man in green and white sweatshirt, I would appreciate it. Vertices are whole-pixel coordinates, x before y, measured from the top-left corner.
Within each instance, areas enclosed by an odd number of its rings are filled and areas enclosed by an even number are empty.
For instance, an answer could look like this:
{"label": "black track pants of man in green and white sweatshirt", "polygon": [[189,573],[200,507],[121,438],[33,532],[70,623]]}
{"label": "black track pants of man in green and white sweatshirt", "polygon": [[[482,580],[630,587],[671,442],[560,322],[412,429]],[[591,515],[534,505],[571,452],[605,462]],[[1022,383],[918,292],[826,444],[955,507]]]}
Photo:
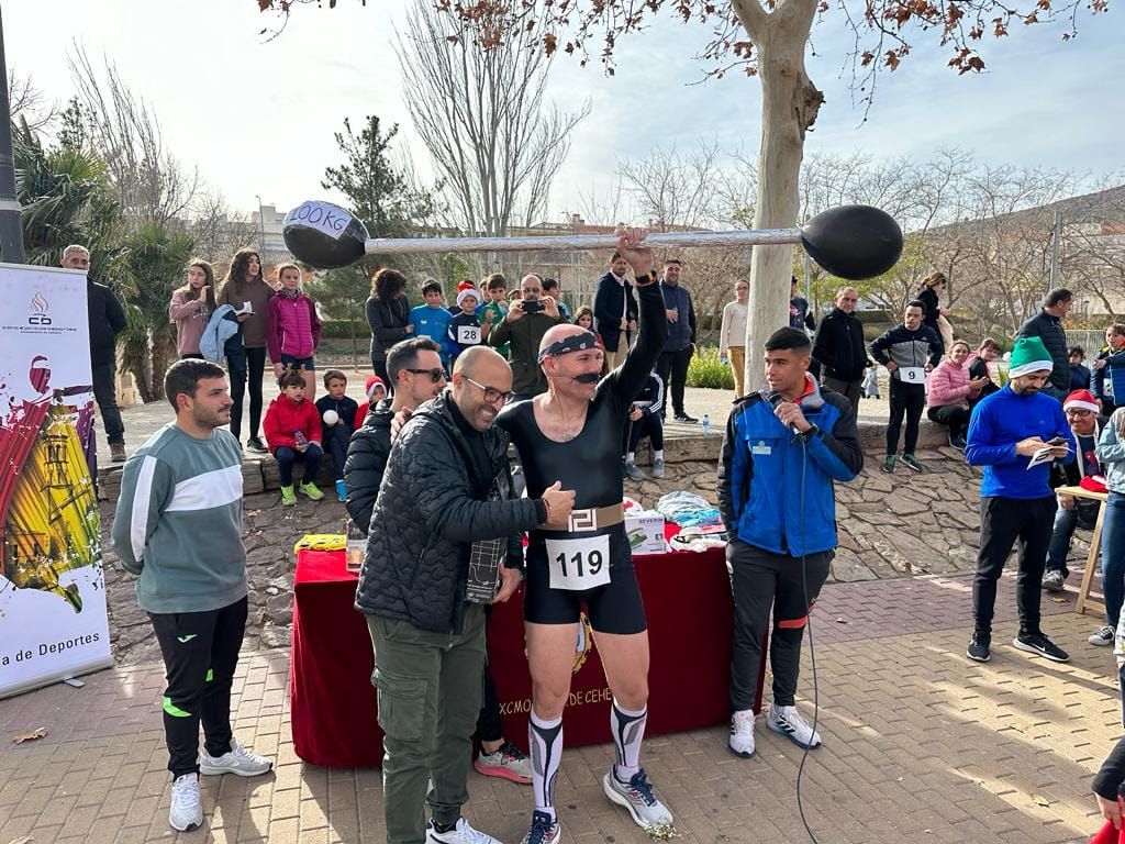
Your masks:
{"label": "black track pants of man in green and white sweatshirt", "polygon": [[198,773],[199,724],[212,756],[231,749],[231,684],[246,629],[246,599],[207,612],[150,612],[164,655],[164,739],[172,778]]}

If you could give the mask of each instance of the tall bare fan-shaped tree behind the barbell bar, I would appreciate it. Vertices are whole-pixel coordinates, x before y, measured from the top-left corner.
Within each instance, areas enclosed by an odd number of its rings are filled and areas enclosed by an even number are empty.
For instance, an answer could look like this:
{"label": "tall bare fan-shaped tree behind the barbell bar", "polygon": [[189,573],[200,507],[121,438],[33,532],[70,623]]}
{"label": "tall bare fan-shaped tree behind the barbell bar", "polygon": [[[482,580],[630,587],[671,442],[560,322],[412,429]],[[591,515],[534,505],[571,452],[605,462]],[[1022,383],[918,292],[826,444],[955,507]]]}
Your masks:
{"label": "tall bare fan-shaped tree behind the barbell bar", "polygon": [[543,102],[550,59],[531,33],[486,50],[494,21],[458,21],[429,0],[407,15],[396,53],[405,102],[444,182],[450,223],[470,235],[503,236],[547,207],[551,182],[587,102],[565,114]]}

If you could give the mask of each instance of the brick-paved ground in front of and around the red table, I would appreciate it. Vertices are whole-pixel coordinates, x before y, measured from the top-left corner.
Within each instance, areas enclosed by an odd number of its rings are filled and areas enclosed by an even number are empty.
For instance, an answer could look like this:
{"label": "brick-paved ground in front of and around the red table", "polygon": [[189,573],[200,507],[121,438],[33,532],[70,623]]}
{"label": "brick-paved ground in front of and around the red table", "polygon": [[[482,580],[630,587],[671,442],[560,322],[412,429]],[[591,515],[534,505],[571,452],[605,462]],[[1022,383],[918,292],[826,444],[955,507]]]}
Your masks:
{"label": "brick-paved ground in front of and around the red table", "polygon": [[[970,587],[954,576],[824,590],[812,632],[825,745],[809,754],[802,787],[819,841],[1061,844],[1087,841],[1099,826],[1090,780],[1122,725],[1113,656],[1086,644],[1097,620],[1073,612],[1072,592],[1062,603],[1044,596],[1045,628],[1073,662],[1017,652],[1007,644],[1015,634],[1007,575],[993,661],[971,663]],[[286,649],[243,655],[236,734],[277,767],[256,779],[205,776],[208,823],[183,835],[166,825],[159,664],[0,701],[0,844],[384,839],[378,771],[315,767],[294,754],[287,676]],[[801,691],[808,710],[808,646]],[[10,743],[40,726],[45,738]],[[611,758],[612,745],[565,753],[558,796],[568,843],[647,841],[601,793]],[[808,841],[794,790],[801,753],[760,722],[755,758],[730,755],[726,730],[713,728],[651,738],[642,762],[685,844]],[[471,773],[469,792],[470,823],[519,841],[526,787]]]}

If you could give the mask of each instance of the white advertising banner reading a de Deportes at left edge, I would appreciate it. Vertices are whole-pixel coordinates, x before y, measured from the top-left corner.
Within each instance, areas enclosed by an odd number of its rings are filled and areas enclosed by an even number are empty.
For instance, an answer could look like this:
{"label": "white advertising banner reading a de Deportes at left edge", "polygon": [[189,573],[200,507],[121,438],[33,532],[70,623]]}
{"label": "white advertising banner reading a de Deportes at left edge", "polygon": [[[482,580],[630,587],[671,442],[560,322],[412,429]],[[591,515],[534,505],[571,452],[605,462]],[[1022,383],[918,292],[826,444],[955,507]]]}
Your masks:
{"label": "white advertising banner reading a de Deportes at left edge", "polygon": [[0,698],[112,664],[86,284],[0,263]]}

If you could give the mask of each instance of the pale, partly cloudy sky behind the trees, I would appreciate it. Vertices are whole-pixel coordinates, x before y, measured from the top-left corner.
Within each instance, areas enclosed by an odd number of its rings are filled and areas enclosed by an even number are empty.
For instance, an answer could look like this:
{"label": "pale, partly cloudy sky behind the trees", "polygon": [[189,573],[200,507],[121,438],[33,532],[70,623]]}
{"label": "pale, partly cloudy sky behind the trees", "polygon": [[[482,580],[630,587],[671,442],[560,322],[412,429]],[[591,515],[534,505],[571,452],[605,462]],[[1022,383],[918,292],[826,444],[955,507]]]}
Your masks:
{"label": "pale, partly cloudy sky behind the trees", "polygon": [[[64,101],[72,84],[66,55],[73,39],[92,59],[108,54],[136,92],[151,100],[176,154],[198,164],[208,182],[243,212],[267,204],[287,208],[322,198],[326,164],[336,163],[332,134],[345,116],[367,114],[402,125],[416,145],[403,107],[390,50],[404,0],[340,0],[302,9],[286,32],[267,42],[271,23],[252,0],[30,0],[6,3],[9,69],[32,75]],[[866,122],[850,89],[845,56],[850,39],[842,15],[813,29],[817,55],[809,73],[825,92],[807,153],[925,158],[943,145],[979,160],[1108,173],[1123,167],[1125,137],[1125,12],[1079,17],[1079,36],[1061,41],[1058,26],[1014,25],[1014,35],[982,43],[989,72],[958,77],[935,34],[918,34],[915,50],[881,78]],[[570,158],[551,195],[550,215],[580,208],[586,195],[609,189],[622,156],[654,146],[686,150],[717,141],[756,155],[760,128],[758,82],[740,73],[698,82],[694,59],[708,30],[670,15],[619,42],[618,69],[606,77],[559,56],[548,86],[551,101],[593,110],[576,131]],[[428,170],[420,145],[413,156]],[[609,221],[613,222],[613,221]]]}

